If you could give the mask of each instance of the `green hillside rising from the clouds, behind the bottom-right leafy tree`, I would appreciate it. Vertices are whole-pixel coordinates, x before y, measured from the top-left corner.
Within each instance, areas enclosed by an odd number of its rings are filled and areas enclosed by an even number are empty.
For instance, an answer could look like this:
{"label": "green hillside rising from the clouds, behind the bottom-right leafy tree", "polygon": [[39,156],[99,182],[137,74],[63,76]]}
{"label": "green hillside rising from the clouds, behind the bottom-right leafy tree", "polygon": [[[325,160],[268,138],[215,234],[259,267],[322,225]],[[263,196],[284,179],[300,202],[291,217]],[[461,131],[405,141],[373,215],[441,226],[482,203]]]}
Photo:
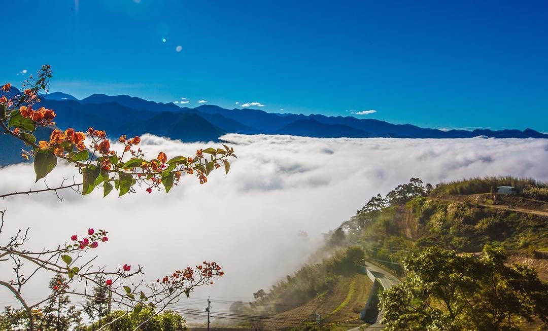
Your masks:
{"label": "green hillside rising from the clouds, behind the bottom-right leafy tree", "polygon": [[[494,194],[498,186],[516,187],[518,194]],[[253,303],[234,310],[270,317],[261,322],[264,329],[317,329],[316,314],[323,316],[322,328],[349,329],[360,323],[372,288],[357,271],[360,260],[405,279],[404,259],[429,247],[476,255],[486,245],[500,247],[509,256],[507,265],[527,264],[546,279],[546,191],[533,179],[473,178],[433,187],[412,178],[385,196],[374,196],[332,231],[315,254],[328,258],[304,266],[268,292],[255,293]]]}

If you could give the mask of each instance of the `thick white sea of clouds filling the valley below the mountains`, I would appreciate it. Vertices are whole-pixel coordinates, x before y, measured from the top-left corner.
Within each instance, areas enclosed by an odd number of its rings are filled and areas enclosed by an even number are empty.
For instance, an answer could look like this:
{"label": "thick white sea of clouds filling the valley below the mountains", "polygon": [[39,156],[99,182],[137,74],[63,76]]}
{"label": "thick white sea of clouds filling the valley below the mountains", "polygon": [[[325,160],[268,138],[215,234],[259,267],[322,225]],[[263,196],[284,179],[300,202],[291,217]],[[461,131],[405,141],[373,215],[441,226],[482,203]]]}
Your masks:
{"label": "thick white sea of clouds filling the valley below the mountains", "polygon": [[[471,138],[419,140],[392,138],[307,138],[226,135],[238,159],[231,170],[214,171],[205,185],[183,176],[169,194],[145,187],[118,198],[102,190],[81,196],[70,190],[0,200],[7,210],[3,242],[16,229],[31,227],[30,248],[64,243],[88,228],[109,231],[98,264],[144,265],[146,280],[174,269],[215,260],[225,271],[213,286],[191,298],[250,300],[252,293],[306,262],[322,233],[336,228],[367,200],[385,194],[410,177],[432,184],[472,176],[533,177],[548,181],[548,140]],[[144,135],[141,148],[153,157],[190,155],[217,143],[182,143]],[[45,179],[59,185],[77,172],[59,165]],[[34,184],[32,165],[0,169],[1,192],[43,188]],[[78,178],[76,179],[78,180]],[[303,235],[306,233],[306,235]],[[2,268],[2,267],[0,267]],[[0,273],[9,270],[2,268]],[[24,289],[28,298],[48,292],[46,278]],[[0,305],[14,304],[0,289]],[[218,307],[222,309],[222,307]]]}

